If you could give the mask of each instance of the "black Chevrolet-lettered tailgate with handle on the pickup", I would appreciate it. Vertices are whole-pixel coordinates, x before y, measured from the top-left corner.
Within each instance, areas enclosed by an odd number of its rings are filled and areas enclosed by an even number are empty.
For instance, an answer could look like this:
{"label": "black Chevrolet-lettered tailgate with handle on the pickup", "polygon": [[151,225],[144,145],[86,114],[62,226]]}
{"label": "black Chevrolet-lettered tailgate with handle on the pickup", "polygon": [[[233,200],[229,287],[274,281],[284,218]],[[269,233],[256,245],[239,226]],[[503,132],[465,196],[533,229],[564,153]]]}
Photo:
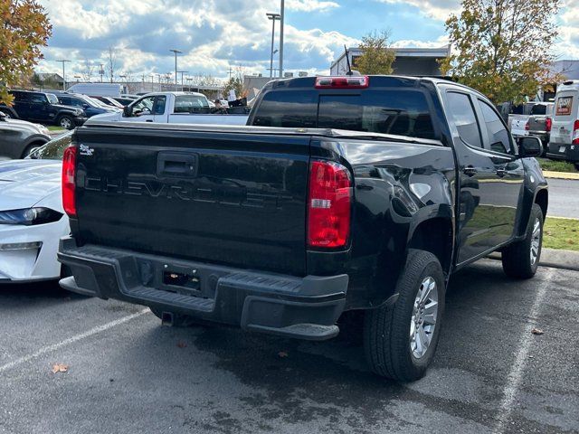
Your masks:
{"label": "black Chevrolet-lettered tailgate with handle on the pickup", "polygon": [[302,275],[309,137],[83,127],[81,241]]}

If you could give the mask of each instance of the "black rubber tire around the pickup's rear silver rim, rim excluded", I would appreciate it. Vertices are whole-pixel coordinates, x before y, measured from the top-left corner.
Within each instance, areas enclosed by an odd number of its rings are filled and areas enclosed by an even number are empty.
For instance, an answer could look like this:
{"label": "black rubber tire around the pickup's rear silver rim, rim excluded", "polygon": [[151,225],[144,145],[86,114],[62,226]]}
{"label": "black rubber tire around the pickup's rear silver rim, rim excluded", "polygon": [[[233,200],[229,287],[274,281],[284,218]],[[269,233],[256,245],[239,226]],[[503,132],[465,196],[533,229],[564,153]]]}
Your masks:
{"label": "black rubber tire around the pickup's rear silver rim, rim excluded", "polygon": [[[438,309],[430,344],[420,357],[416,357],[411,348],[411,323],[415,300],[426,278],[436,282]],[[365,312],[365,357],[374,373],[398,382],[413,382],[426,373],[441,332],[445,288],[439,260],[428,251],[410,250],[396,292],[400,296],[393,306]]]}

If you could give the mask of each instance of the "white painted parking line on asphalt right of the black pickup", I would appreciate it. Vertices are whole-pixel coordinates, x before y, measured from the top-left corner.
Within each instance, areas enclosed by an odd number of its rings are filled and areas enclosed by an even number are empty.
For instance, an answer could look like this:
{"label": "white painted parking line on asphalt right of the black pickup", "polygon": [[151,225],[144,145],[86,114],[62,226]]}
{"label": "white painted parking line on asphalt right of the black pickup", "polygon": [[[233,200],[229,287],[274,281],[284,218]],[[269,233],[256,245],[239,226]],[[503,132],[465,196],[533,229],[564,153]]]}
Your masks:
{"label": "white painted parking line on asphalt right of the black pickup", "polygon": [[555,269],[547,269],[544,275],[545,282],[541,285],[538,292],[536,293],[535,301],[533,302],[533,307],[529,313],[530,321],[528,322],[523,335],[521,336],[520,342],[521,346],[518,348],[517,356],[515,357],[515,362],[508,373],[507,385],[503,390],[503,400],[500,402],[500,408],[498,410],[497,426],[493,430],[494,433],[500,434],[505,430],[505,424],[508,422],[510,413],[513,411],[513,404],[515,403],[515,398],[517,398],[518,389],[521,387],[521,382],[523,381],[523,373],[525,371],[525,364],[528,359],[528,352],[531,348],[531,343],[535,338],[531,330],[536,327],[536,317],[539,314],[541,307],[546,296],[547,286],[555,274]]}

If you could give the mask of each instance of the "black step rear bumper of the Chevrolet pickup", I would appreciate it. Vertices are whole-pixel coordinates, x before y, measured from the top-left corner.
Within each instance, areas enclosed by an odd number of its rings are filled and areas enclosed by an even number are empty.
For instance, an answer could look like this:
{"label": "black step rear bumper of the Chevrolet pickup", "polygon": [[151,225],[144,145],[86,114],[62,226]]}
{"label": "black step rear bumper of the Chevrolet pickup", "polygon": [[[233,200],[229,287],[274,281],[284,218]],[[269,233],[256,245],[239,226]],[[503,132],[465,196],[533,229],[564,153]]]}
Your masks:
{"label": "black step rear bumper of the Chevrolet pickup", "polygon": [[[61,286],[73,292],[273,335],[332,338],[346,305],[346,275],[296,278],[129,250],[79,248],[70,237],[61,240],[58,258],[72,272]],[[196,283],[167,284],[171,275]]]}

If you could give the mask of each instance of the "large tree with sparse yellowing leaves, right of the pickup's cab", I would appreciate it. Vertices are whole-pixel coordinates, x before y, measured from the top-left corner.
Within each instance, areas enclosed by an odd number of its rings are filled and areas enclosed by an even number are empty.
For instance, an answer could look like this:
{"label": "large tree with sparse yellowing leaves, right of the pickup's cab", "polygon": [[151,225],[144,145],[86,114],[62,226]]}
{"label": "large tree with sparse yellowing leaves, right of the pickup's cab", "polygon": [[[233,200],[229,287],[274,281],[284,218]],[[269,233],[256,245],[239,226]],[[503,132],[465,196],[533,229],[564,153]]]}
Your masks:
{"label": "large tree with sparse yellowing leaves, right of the pickup's cab", "polygon": [[560,80],[551,71],[559,0],[462,0],[446,22],[452,53],[441,71],[495,103],[522,102]]}

